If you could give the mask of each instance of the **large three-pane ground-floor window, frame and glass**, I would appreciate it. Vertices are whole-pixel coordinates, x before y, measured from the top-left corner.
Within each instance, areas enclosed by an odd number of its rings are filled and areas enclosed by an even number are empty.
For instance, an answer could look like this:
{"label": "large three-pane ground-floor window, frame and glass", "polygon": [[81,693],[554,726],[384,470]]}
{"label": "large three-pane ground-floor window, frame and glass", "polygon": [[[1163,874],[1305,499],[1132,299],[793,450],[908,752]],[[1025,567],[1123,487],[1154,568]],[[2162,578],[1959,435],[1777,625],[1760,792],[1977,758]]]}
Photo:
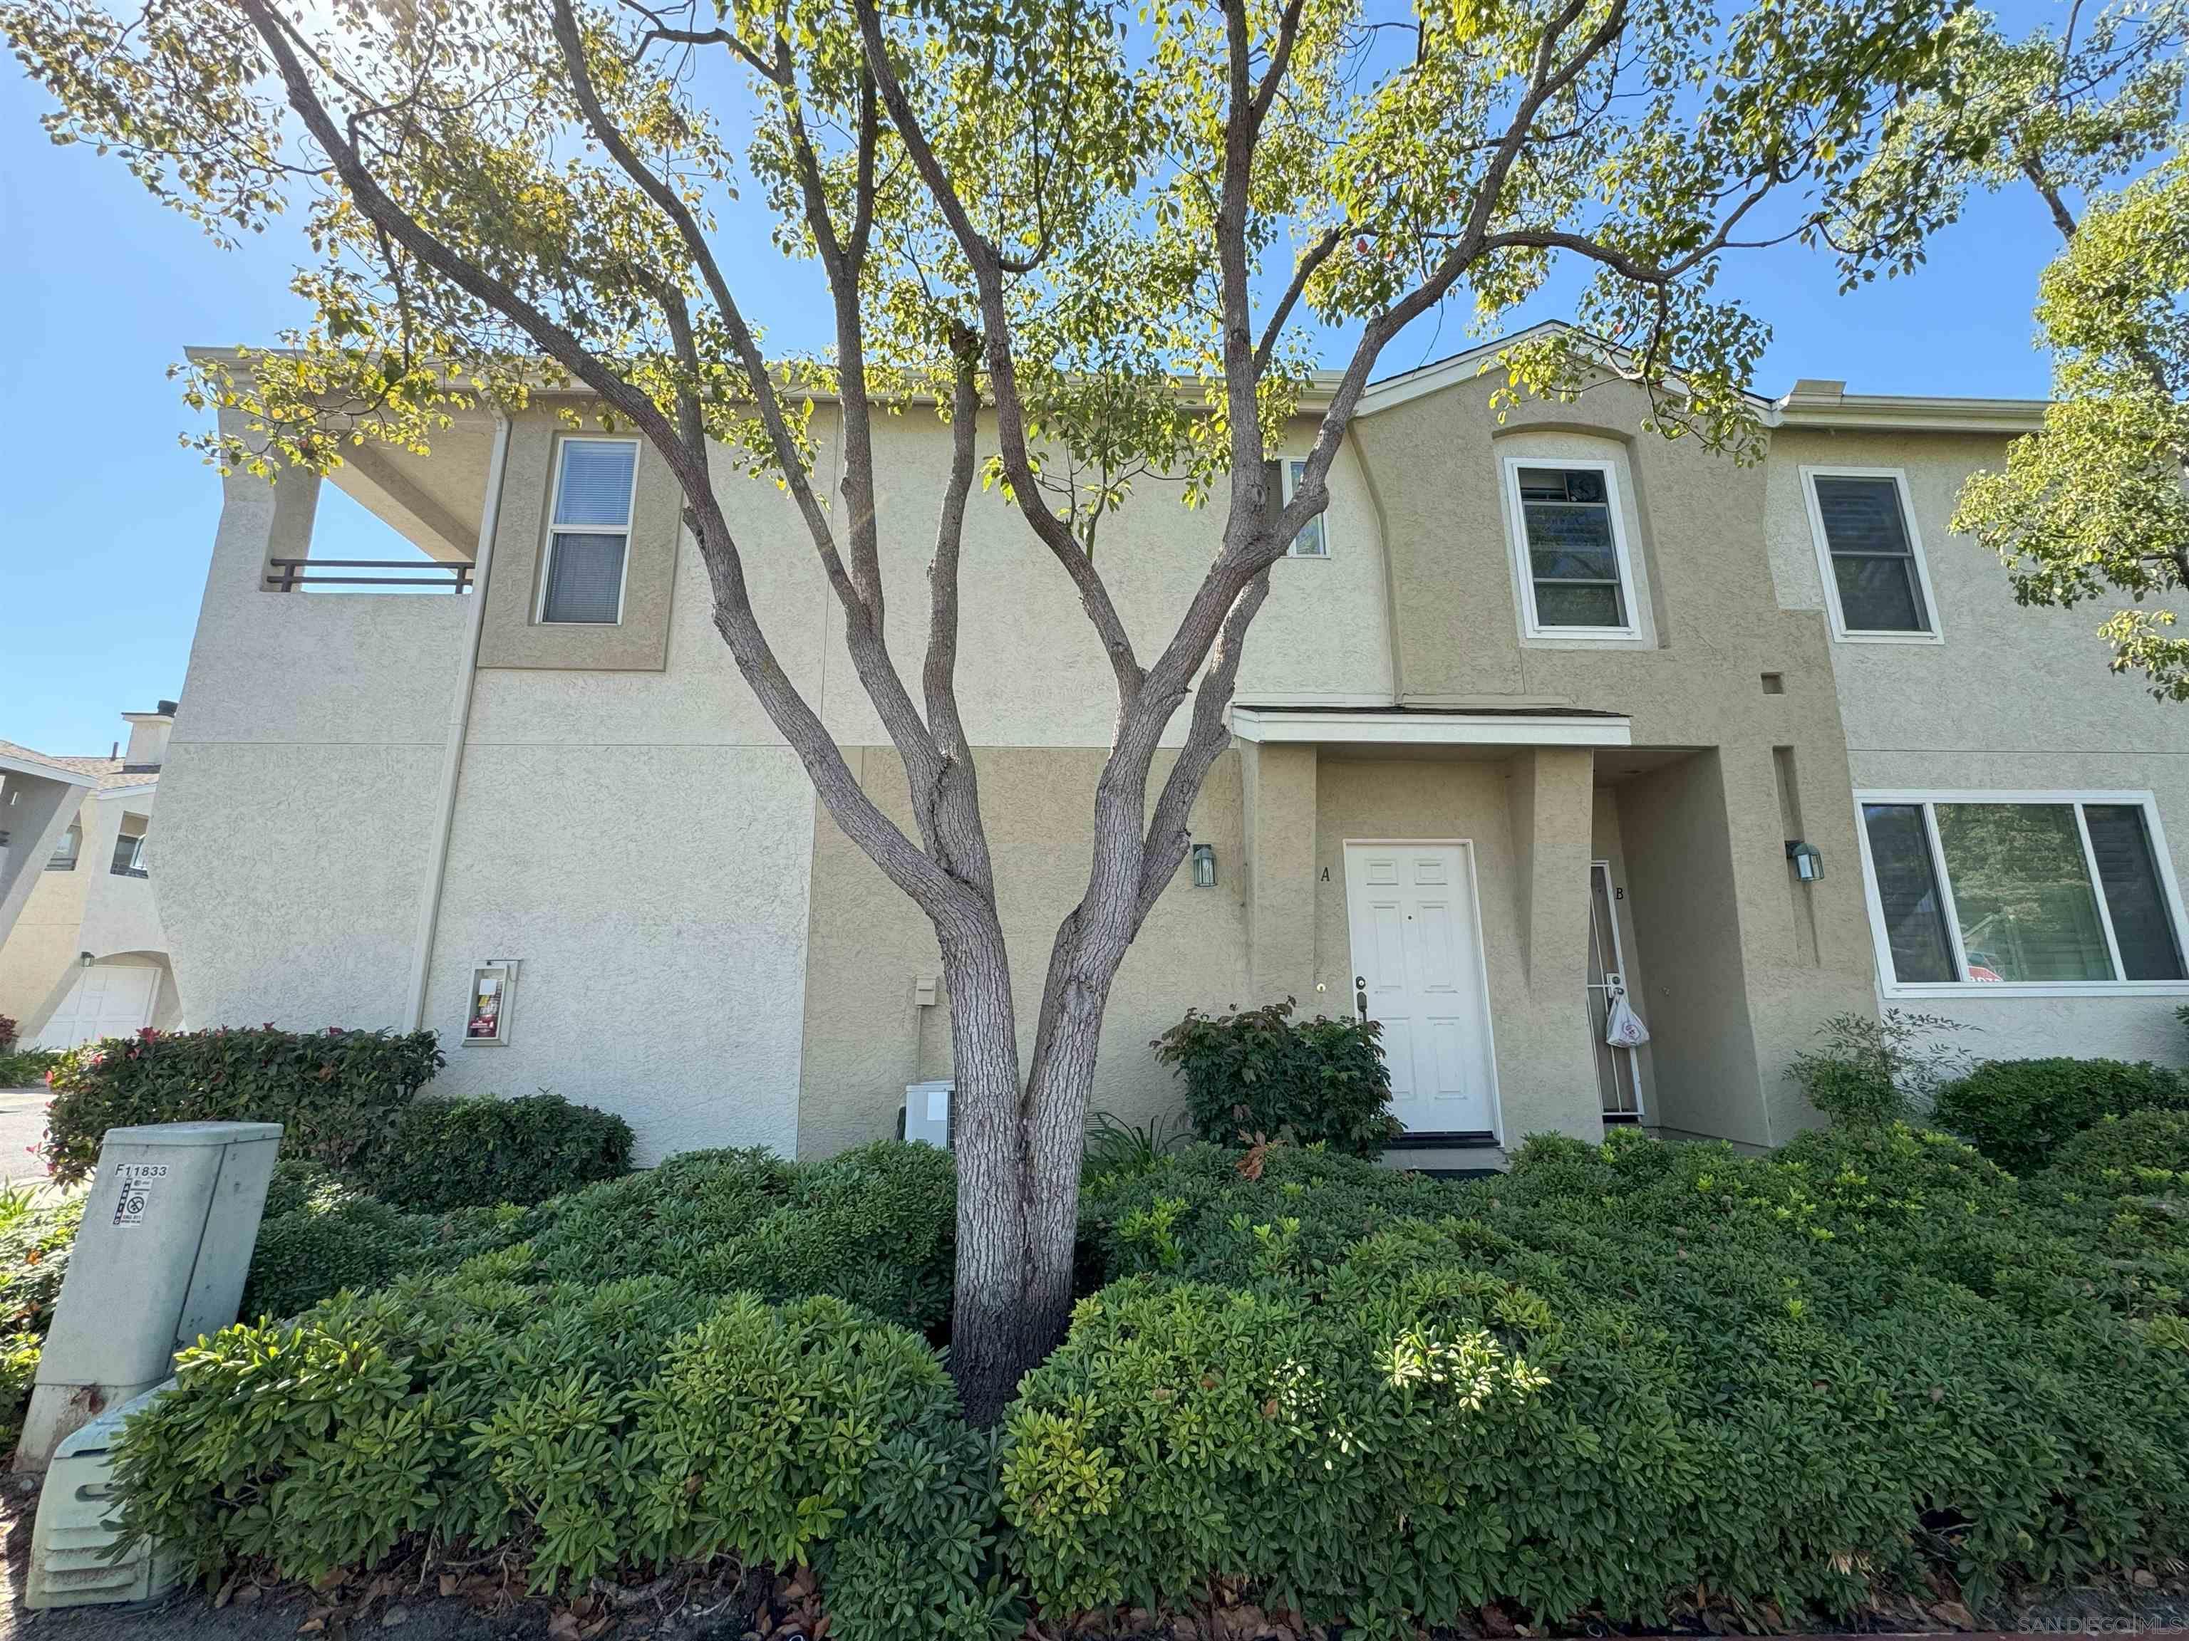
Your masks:
{"label": "large three-pane ground-floor window, frame and glass", "polygon": [[1865,792],[1887,989],[2178,987],[2180,901],[2150,794]]}

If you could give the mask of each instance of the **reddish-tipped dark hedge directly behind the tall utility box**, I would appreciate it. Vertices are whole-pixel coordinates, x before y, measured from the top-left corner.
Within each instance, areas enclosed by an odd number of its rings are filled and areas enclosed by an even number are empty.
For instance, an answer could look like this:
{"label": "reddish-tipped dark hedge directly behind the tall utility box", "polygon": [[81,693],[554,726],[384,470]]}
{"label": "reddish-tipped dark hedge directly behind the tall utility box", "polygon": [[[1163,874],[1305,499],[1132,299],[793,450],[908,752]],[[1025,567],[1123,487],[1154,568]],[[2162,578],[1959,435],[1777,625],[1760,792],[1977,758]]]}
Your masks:
{"label": "reddish-tipped dark hedge directly behind the tall utility box", "polygon": [[282,1153],[359,1168],[438,1072],[431,1031],[212,1031],[107,1037],[61,1057],[46,1109],[46,1166],[72,1184],[107,1129],[136,1122],[280,1122]]}

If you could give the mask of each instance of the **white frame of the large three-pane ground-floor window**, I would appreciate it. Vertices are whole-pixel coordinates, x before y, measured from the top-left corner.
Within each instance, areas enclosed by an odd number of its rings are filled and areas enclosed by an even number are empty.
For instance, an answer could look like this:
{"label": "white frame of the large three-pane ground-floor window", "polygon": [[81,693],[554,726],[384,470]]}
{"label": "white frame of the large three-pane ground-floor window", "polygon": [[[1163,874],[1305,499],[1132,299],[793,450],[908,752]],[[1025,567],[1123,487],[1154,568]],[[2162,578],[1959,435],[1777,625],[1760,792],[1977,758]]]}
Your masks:
{"label": "white frame of the large three-pane ground-floor window", "polygon": [[2150,792],[1979,792],[1964,788],[1922,788],[1904,792],[1856,790],[1854,836],[1863,851],[1863,899],[1869,906],[1869,939],[1878,958],[1878,991],[1887,998],[2189,998],[2189,980],[1909,980],[1893,971],[1891,939],[1885,928],[1885,897],[1878,893],[1878,866],[1869,858],[1869,823],[1863,816],[1867,803],[1911,803],[1922,805],[1924,838],[1931,845],[1931,873],[1937,880],[1939,910],[1946,917],[1946,939],[1953,945],[1953,965],[1968,974],[1968,952],[1961,950],[1961,912],[1953,901],[1953,880],[1946,875],[1946,851],[1937,838],[1939,803],[2042,803],[2051,807],[2075,807],[2075,834],[2082,838],[2082,864],[2090,873],[2090,893],[2097,897],[2097,921],[2106,932],[2106,954],[2112,971],[2121,974],[2121,943],[2112,932],[2112,906],[2106,901],[2106,884],[2097,875],[2097,856],[2090,851],[2090,827],[2084,821],[2084,803],[2119,803],[2143,810],[2143,834],[2152,847],[2152,864],[2158,871],[2158,891],[2165,895],[2167,917],[2174,919],[2174,945],[2189,963],[2189,919],[2182,917],[2182,893],[2174,880],[2174,853],[2167,849],[2167,831],[2158,821],[2158,799]]}

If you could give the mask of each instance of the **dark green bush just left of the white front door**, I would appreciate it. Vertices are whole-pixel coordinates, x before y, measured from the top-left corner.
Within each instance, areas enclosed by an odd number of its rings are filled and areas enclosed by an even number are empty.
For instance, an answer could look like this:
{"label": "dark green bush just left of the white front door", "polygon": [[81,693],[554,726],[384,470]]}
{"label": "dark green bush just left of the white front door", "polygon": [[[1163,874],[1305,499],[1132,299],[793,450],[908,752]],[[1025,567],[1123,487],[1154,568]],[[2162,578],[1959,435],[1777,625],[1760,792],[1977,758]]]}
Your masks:
{"label": "dark green bush just left of the white front door", "polygon": [[1186,1009],[1151,1046],[1184,1076],[1200,1138],[1285,1136],[1375,1157],[1399,1133],[1379,1037],[1375,1020],[1294,1020],[1285,998],[1215,1017]]}

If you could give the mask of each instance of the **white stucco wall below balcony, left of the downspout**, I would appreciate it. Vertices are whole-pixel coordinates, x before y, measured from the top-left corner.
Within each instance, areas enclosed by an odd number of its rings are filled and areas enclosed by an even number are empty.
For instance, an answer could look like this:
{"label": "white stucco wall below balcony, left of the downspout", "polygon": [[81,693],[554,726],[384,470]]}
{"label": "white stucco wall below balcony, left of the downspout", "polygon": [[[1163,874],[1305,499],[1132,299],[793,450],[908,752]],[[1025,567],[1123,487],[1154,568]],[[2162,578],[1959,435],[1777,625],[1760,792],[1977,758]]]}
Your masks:
{"label": "white stucco wall below balcony, left of the downspout", "polygon": [[317,481],[223,481],[160,772],[160,921],[193,1026],[398,1026],[468,600],[269,593]]}

